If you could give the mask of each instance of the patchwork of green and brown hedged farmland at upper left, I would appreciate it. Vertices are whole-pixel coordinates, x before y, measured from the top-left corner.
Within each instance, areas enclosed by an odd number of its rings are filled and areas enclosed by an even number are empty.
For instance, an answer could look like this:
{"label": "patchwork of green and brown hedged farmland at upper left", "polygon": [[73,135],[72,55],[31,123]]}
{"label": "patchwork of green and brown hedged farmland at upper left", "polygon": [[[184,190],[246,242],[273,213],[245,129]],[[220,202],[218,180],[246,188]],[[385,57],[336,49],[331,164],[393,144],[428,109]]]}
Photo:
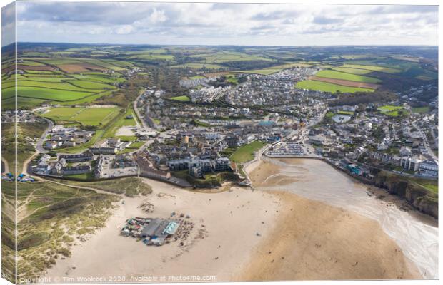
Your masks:
{"label": "patchwork of green and brown hedged farmland at upper left", "polygon": [[[126,68],[117,66],[115,61],[94,58],[24,58],[20,61],[19,74],[14,74],[14,65],[2,69],[4,108],[14,107],[15,89],[19,108],[41,103],[75,105],[109,95],[126,81],[121,73],[115,72]],[[122,65],[130,66],[129,63]]]}

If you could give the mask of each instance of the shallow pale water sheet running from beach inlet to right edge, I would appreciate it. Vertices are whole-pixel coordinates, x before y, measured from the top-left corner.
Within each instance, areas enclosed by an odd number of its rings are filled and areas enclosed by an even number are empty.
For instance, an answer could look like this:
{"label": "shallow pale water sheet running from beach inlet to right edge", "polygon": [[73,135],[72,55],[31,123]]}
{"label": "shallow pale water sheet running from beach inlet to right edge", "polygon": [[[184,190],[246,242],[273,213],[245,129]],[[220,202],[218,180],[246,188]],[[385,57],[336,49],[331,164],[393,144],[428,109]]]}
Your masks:
{"label": "shallow pale water sheet running from beach inlet to right edge", "polygon": [[[267,185],[271,181],[279,181],[279,178],[289,183],[277,182],[280,186],[266,189],[289,190],[302,197],[377,220],[384,232],[397,242],[404,255],[417,265],[423,278],[439,278],[439,229],[432,219],[416,211],[402,211],[394,204],[387,206],[387,202],[368,195],[367,185],[321,160],[267,160],[279,165],[281,170],[265,180]],[[287,180],[288,177],[293,180]]]}

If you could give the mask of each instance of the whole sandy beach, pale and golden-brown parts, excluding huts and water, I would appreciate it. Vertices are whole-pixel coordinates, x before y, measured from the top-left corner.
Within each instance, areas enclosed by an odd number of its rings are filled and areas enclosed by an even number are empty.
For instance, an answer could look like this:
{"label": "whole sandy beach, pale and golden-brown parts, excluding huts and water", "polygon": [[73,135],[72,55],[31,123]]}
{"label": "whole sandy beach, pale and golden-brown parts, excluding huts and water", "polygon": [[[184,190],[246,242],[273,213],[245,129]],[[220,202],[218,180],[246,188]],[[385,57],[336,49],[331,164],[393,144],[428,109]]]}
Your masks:
{"label": "whole sandy beach, pale and golden-brown parts, excluding huts and water", "polygon": [[[246,170],[259,190],[193,192],[146,180],[151,195],[125,197],[106,227],[74,247],[72,256],[57,261],[46,276],[61,282],[162,281],[161,276],[164,281],[180,276],[214,276],[210,281],[422,278],[374,219],[291,192],[264,190],[297,182],[289,173],[293,170],[282,173],[263,161]],[[144,202],[154,205],[153,213],[139,208]],[[195,223],[183,246],[147,247],[119,235],[130,217],[167,218],[172,212],[189,214]]]}

